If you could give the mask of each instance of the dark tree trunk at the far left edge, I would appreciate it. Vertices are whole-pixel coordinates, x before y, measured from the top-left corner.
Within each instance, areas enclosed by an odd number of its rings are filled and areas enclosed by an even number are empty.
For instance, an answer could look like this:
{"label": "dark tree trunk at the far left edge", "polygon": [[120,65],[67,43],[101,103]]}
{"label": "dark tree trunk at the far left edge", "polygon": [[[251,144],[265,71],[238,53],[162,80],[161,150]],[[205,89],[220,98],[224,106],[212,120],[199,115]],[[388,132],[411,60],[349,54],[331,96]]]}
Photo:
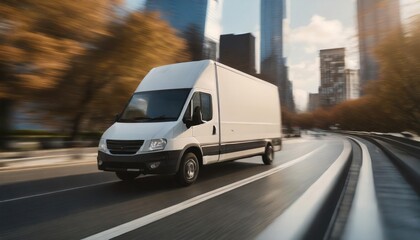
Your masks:
{"label": "dark tree trunk at the far left edge", "polygon": [[12,129],[13,100],[0,99],[0,148],[5,148]]}

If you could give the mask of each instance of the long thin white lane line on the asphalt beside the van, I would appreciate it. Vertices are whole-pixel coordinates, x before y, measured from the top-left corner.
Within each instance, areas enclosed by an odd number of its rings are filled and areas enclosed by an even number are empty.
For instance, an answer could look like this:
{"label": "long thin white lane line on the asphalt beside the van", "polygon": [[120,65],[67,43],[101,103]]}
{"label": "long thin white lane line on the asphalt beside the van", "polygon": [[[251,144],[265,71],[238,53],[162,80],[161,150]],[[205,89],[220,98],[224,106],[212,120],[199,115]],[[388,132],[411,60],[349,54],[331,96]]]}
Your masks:
{"label": "long thin white lane line on the asphalt beside the van", "polygon": [[162,218],[168,217],[168,216],[170,216],[172,214],[175,214],[177,212],[180,212],[180,211],[182,211],[184,209],[187,209],[189,207],[195,206],[195,205],[197,205],[199,203],[202,203],[202,202],[204,202],[206,200],[209,200],[211,198],[217,197],[217,196],[219,196],[219,195],[221,195],[223,193],[232,191],[232,190],[234,190],[236,188],[242,187],[242,186],[244,186],[246,184],[249,184],[251,182],[257,181],[257,180],[259,180],[261,178],[270,176],[270,175],[272,175],[274,173],[277,173],[277,172],[279,172],[281,170],[284,170],[284,169],[286,169],[288,167],[291,167],[291,166],[293,166],[293,165],[295,165],[295,164],[297,164],[297,163],[299,163],[299,162],[301,162],[303,160],[306,160],[309,156],[313,155],[316,152],[319,152],[321,149],[323,149],[326,146],[327,146],[327,144],[323,144],[319,148],[314,149],[313,151],[311,151],[311,152],[309,152],[309,153],[307,153],[307,154],[305,154],[305,155],[303,155],[301,157],[298,157],[298,158],[296,158],[294,160],[291,160],[291,161],[289,161],[287,163],[284,163],[282,165],[279,165],[279,166],[277,166],[275,168],[272,168],[272,169],[270,169],[268,171],[265,171],[265,172],[259,173],[257,175],[254,175],[254,176],[245,178],[243,180],[240,180],[240,181],[231,183],[229,185],[226,185],[224,187],[221,187],[221,188],[212,190],[210,192],[203,193],[203,194],[198,195],[196,197],[193,197],[193,198],[190,198],[188,200],[185,200],[185,201],[183,201],[181,203],[175,204],[175,205],[173,205],[171,207],[164,208],[164,209],[159,210],[157,212],[151,213],[151,214],[146,215],[144,217],[137,218],[137,219],[132,220],[130,222],[121,224],[119,226],[116,226],[116,227],[113,227],[111,229],[105,230],[103,232],[97,233],[95,235],[86,237],[84,239],[85,240],[94,240],[94,239],[101,239],[102,240],[102,239],[111,239],[111,238],[118,237],[118,236],[120,236],[122,234],[125,234],[127,232],[133,231],[133,230],[135,230],[137,228],[143,227],[143,226],[145,226],[147,224],[153,223],[153,222],[158,221],[158,220],[160,220]]}

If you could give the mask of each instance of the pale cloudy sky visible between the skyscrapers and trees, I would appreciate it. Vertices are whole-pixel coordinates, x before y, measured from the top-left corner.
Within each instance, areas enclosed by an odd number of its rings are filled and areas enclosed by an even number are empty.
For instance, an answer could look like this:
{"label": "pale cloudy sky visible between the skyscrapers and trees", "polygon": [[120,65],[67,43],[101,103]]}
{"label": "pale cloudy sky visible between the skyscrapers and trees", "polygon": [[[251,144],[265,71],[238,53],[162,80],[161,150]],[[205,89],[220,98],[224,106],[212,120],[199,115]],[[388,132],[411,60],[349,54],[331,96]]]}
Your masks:
{"label": "pale cloudy sky visible between the skyscrapers and trees", "polygon": [[[145,0],[126,0],[131,9]],[[174,0],[176,1],[176,0]],[[359,68],[356,0],[286,0],[284,55],[293,83],[296,107],[306,110],[308,94],[320,84],[319,50],[346,48],[346,68]],[[400,0],[403,21],[420,14],[419,0]],[[256,67],[259,69],[260,0],[223,0],[222,33],[251,32],[256,37]]]}

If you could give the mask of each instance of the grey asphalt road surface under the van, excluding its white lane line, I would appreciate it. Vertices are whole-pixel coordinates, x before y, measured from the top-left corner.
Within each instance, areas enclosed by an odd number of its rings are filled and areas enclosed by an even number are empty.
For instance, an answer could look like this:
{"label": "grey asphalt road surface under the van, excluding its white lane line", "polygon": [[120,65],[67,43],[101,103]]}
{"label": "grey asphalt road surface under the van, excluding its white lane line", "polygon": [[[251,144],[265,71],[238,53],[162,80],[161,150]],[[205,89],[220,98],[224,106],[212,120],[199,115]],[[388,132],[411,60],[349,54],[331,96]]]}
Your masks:
{"label": "grey asphalt road surface under the van, excluding its white lane line", "polygon": [[178,188],[171,176],[142,176],[123,183],[81,164],[0,172],[2,239],[80,239],[156,213],[193,197],[302,161],[153,221],[122,239],[249,239],[256,237],[337,159],[339,138],[286,141],[275,164],[260,157],[205,166],[197,182]]}

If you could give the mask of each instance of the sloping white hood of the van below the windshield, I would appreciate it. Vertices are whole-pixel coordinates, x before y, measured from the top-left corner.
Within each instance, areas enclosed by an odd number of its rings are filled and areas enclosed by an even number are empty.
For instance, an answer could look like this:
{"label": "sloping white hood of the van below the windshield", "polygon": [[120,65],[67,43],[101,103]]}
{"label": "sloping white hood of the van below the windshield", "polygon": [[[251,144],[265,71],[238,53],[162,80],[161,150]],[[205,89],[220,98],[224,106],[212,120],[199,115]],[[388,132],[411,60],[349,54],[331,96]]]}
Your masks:
{"label": "sloping white hood of the van below the windshield", "polygon": [[172,138],[172,129],[176,122],[158,123],[114,123],[102,138],[114,140],[150,140]]}

